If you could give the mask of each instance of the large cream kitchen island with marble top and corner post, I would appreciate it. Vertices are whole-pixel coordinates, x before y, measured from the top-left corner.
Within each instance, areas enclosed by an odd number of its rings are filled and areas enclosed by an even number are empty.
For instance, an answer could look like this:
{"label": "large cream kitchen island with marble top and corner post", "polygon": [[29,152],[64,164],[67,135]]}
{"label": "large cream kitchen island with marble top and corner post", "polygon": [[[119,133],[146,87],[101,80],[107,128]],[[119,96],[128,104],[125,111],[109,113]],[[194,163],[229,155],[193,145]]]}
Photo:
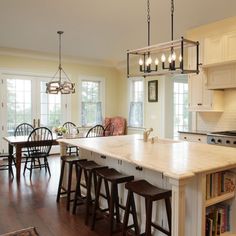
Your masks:
{"label": "large cream kitchen island with marble top and corner post", "polygon": [[[172,236],[204,236],[207,174],[236,168],[234,148],[201,143],[154,139],[144,142],[140,135],[89,139],[62,139],[61,154],[66,145],[80,148],[81,158],[92,159],[118,171],[145,178],[152,184],[172,190]],[[231,230],[236,235],[236,203],[234,193],[222,198],[231,201]],[[125,193],[121,201],[125,203]],[[220,199],[218,200],[218,202]],[[212,201],[214,203],[214,200]],[[139,206],[143,225],[142,203]],[[166,225],[162,206],[156,208],[158,223]],[[233,222],[234,221],[234,222]],[[156,233],[155,235],[162,235]]]}

